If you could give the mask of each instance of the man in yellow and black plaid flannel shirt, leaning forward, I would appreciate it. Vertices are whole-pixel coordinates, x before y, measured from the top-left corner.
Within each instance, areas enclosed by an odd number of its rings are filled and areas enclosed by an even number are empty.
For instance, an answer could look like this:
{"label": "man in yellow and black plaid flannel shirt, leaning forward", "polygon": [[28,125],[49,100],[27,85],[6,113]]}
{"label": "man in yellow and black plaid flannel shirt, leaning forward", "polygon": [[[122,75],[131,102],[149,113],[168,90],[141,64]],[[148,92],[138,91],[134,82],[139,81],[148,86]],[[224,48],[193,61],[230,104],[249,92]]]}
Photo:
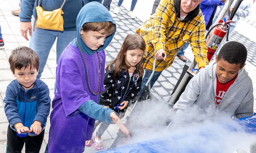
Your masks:
{"label": "man in yellow and black plaid flannel shirt, leaning forward", "polygon": [[[156,69],[151,87],[161,72],[171,66],[176,53],[189,41],[198,69],[208,64],[205,45],[205,22],[199,4],[202,0],[161,0],[156,13],[137,29],[146,42],[143,60],[145,75],[141,91],[150,77],[154,58]],[[162,53],[165,57],[162,57]],[[140,95],[141,91],[138,93]]]}

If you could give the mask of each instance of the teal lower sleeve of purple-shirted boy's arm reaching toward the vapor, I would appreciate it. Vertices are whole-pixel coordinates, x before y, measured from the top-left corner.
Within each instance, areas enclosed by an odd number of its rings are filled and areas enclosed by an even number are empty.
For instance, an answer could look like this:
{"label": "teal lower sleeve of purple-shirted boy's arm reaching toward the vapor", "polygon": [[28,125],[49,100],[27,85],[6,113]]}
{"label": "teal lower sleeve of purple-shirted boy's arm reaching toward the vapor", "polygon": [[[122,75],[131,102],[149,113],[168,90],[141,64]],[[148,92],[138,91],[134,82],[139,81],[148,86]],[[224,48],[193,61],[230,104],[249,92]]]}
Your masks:
{"label": "teal lower sleeve of purple-shirted boy's arm reaching toward the vapor", "polygon": [[88,100],[78,109],[79,111],[88,115],[91,118],[94,118],[104,123],[113,124],[110,118],[110,113],[114,111],[110,108],[103,108],[102,105],[97,104],[93,100]]}

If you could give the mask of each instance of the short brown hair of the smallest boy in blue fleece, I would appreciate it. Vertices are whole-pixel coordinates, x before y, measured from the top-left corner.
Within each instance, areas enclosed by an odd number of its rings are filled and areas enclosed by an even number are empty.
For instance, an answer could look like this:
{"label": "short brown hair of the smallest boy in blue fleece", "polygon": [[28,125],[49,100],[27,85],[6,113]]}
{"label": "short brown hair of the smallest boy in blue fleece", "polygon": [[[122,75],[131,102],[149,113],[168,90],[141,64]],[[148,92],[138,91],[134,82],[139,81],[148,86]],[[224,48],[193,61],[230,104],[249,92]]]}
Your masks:
{"label": "short brown hair of the smallest boy in blue fleece", "polygon": [[22,69],[23,67],[30,69],[36,68],[39,70],[39,57],[29,47],[17,47],[12,51],[11,56],[9,57],[10,69],[14,73],[14,69]]}

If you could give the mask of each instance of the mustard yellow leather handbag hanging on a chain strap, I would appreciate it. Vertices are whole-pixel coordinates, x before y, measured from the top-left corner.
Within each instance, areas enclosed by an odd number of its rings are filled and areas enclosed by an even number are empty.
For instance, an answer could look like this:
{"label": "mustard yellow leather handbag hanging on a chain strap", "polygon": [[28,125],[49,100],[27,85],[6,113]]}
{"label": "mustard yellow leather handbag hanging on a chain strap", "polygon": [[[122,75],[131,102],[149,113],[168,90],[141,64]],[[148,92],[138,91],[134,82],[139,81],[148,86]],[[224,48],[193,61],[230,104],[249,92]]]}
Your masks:
{"label": "mustard yellow leather handbag hanging on a chain strap", "polygon": [[[61,7],[53,11],[44,11],[43,7],[40,6],[40,0],[38,1],[38,6],[35,7],[37,10],[37,28],[47,29],[47,30],[58,30],[63,31],[64,20],[62,14],[62,8],[67,0],[64,0]],[[34,23],[35,26],[35,23]]]}

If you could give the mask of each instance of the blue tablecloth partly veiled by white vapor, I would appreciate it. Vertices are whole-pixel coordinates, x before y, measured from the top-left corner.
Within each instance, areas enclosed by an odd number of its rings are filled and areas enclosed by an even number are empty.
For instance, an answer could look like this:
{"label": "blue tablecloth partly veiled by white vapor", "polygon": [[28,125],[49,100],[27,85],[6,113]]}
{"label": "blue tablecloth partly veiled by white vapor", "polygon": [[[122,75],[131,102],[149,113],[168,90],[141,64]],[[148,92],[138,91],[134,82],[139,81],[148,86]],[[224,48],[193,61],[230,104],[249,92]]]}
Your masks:
{"label": "blue tablecloth partly veiled by white vapor", "polygon": [[[252,133],[256,137],[256,114],[251,117],[245,117],[238,120],[242,124],[245,132]],[[224,125],[225,126],[225,125]],[[226,126],[226,129],[230,129],[230,132],[237,131],[236,127],[230,125]],[[228,132],[227,132],[228,133]],[[198,135],[187,136],[187,134],[179,133],[172,134],[165,139],[153,139],[149,141],[143,141],[133,143],[131,145],[102,151],[100,153],[220,153],[220,148],[227,147],[227,144],[219,142],[218,136],[215,137],[216,133],[212,133],[211,130],[202,128]],[[246,133],[245,133],[246,134]],[[184,144],[184,140],[195,138],[195,141],[189,142],[190,144]],[[239,138],[236,138],[239,140]],[[208,143],[211,143],[211,147],[207,149]],[[217,147],[216,147],[217,146]],[[232,152],[230,152],[232,153]]]}

